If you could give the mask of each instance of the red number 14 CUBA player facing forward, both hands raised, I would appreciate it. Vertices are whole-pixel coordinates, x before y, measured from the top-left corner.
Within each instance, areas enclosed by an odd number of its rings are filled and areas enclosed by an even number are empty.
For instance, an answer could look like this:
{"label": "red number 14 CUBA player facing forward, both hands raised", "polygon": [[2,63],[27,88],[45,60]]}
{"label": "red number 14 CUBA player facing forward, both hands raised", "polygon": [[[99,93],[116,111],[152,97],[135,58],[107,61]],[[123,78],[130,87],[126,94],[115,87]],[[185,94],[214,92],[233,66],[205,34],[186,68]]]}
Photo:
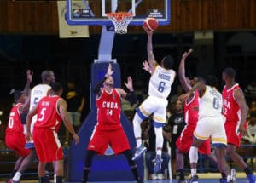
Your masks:
{"label": "red number 14 CUBA player facing forward, both hands raised", "polygon": [[[112,65],[108,65],[108,71],[102,81],[96,84],[93,92],[96,94],[97,124],[92,134],[84,163],[83,183],[88,181],[90,167],[93,157],[97,154],[104,154],[110,145],[115,154],[123,153],[131,167],[137,182],[143,182],[138,176],[137,165],[132,161],[132,153],[125,131],[120,123],[121,103],[120,98],[137,103],[137,96],[133,91],[132,79],[128,77],[125,86],[129,89],[127,94],[124,89],[113,88]],[[101,88],[103,84],[103,88]]]}

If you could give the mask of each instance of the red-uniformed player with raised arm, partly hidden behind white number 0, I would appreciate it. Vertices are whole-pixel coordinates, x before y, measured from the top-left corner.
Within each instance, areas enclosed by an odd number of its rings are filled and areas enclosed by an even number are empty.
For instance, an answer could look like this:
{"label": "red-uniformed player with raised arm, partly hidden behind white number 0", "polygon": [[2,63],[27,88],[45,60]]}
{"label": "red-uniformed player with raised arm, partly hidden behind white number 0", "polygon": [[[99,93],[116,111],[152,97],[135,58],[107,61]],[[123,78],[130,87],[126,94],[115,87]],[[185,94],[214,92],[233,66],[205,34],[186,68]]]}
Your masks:
{"label": "red-uniformed player with raised arm, partly hidden behind white number 0", "polygon": [[[192,52],[192,49],[189,49],[188,52],[183,54],[182,60],[178,69],[178,77],[179,81],[182,84],[185,92],[188,92],[194,85],[194,83],[200,80],[200,77],[195,77],[193,80],[189,81],[185,77],[185,60]],[[184,118],[187,125],[183,129],[183,132],[178,137],[176,141],[176,169],[177,174],[179,176],[179,183],[185,183],[185,175],[184,175],[184,154],[189,152],[190,146],[193,140],[193,133],[196,127],[196,123],[198,122],[198,91],[195,90],[193,94],[189,96],[187,100],[184,101]],[[211,154],[211,145],[210,140],[205,140],[201,146],[199,147],[199,152],[201,154],[205,154],[214,162],[216,162],[216,157]]]}

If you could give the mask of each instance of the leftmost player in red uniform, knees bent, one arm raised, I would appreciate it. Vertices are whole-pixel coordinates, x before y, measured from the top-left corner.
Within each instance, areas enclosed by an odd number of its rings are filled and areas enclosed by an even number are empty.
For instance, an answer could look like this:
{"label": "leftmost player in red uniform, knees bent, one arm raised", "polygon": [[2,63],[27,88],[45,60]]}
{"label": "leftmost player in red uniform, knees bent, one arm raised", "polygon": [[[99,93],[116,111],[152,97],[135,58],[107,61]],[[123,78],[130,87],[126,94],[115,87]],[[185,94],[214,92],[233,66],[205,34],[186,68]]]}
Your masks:
{"label": "leftmost player in red uniform, knees bent, one arm raised", "polygon": [[26,114],[29,108],[30,84],[32,72],[26,71],[26,86],[23,91],[14,91],[15,106],[9,115],[9,123],[6,129],[5,142],[9,149],[14,150],[20,158],[15,163],[15,168],[9,177],[9,183],[19,182],[21,174],[30,166],[35,156],[30,150],[25,149],[26,144]]}

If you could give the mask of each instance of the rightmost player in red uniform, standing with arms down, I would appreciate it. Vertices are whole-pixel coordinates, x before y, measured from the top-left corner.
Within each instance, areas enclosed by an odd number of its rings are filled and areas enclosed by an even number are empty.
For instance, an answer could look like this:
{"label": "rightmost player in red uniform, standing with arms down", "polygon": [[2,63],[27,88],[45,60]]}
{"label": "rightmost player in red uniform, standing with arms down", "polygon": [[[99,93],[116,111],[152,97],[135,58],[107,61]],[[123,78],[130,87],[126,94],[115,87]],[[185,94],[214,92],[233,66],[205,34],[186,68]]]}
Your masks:
{"label": "rightmost player in red uniform, standing with arms down", "polygon": [[236,152],[236,148],[240,146],[241,135],[246,133],[245,122],[247,120],[248,106],[239,84],[235,82],[236,71],[232,68],[225,68],[222,77],[225,82],[222,92],[222,113],[226,117],[227,154],[239,168],[245,171],[249,183],[255,183],[256,178],[252,170],[248,168],[247,163]]}

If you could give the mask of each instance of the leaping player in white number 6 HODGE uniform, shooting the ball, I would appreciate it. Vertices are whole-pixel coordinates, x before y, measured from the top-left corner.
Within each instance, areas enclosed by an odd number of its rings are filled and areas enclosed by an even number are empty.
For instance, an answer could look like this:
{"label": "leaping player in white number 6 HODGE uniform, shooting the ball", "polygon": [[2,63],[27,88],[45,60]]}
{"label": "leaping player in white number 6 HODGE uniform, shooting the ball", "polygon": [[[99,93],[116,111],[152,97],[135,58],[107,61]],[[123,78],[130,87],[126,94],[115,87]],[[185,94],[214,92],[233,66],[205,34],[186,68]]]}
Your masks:
{"label": "leaping player in white number 6 HODGE uniform, shooting the ball", "polygon": [[[143,146],[141,139],[141,123],[144,119],[153,113],[154,131],[156,134],[156,157],[154,159],[154,173],[158,173],[158,171],[160,171],[160,156],[162,153],[162,146],[164,141],[162,128],[166,123],[166,107],[168,104],[168,100],[166,98],[171,92],[171,87],[176,76],[176,72],[172,70],[172,66],[174,64],[172,56],[168,55],[164,57],[161,60],[160,65],[157,64],[157,62],[154,60],[152,47],[153,31],[148,31],[146,27],[144,27],[144,30],[148,34],[148,62],[145,61],[143,63],[143,69],[151,73],[151,78],[148,87],[148,98],[144,100],[141,106],[137,108],[137,112],[133,118],[134,134],[137,140],[137,149],[133,160],[137,159],[137,157],[140,157],[143,152],[146,151],[146,148]],[[145,67],[147,67],[148,70]]]}

